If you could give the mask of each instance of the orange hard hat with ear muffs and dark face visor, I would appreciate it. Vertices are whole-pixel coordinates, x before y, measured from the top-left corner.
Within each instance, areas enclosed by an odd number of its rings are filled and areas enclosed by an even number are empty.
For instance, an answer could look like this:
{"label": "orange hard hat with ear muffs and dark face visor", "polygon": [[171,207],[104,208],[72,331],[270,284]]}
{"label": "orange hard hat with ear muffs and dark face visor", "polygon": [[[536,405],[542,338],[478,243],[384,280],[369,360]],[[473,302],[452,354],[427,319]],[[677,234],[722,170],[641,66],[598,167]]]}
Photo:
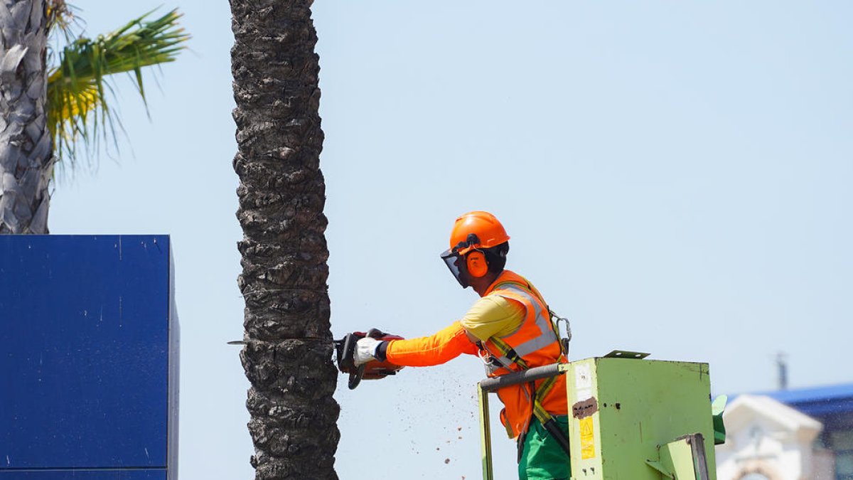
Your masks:
{"label": "orange hard hat with ear muffs and dark face visor", "polygon": [[[508,241],[507,231],[495,215],[469,212],[456,219],[450,231],[450,249],[444,251],[441,258],[462,288],[467,288],[472,277],[483,277],[488,271],[489,262],[483,250]],[[505,258],[506,250],[501,252],[501,258]]]}

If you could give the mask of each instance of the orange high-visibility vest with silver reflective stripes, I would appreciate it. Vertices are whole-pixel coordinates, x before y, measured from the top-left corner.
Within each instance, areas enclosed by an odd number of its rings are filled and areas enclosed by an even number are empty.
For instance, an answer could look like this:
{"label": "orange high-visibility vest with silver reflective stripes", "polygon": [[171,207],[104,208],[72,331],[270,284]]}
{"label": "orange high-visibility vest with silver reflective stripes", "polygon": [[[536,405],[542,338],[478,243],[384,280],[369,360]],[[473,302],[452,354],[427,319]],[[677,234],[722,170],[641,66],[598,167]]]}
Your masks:
{"label": "orange high-visibility vest with silver reflective stripes", "polygon": [[[548,306],[533,285],[517,273],[504,270],[485,295],[497,295],[518,301],[525,307],[525,319],[519,328],[503,337],[491,337],[480,342],[480,356],[487,362],[489,377],[499,377],[534,366],[566,362],[560,341],[551,324]],[[511,358],[512,357],[512,358]],[[527,431],[531,417],[537,414],[566,415],[566,376],[543,378],[531,383],[510,385],[497,390],[503,402],[501,422],[511,438]],[[540,407],[534,412],[534,399]],[[544,413],[543,412],[547,412]]]}

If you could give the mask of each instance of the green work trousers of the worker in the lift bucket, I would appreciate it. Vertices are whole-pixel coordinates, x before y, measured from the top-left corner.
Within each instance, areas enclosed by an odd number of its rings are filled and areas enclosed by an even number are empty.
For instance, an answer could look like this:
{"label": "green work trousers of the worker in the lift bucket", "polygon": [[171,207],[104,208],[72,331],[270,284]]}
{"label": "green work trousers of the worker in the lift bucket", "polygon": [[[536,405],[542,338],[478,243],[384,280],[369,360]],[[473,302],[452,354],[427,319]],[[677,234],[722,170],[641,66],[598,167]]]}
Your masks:
{"label": "green work trousers of the worker in the lift bucket", "polygon": [[[560,430],[569,437],[569,417],[555,416]],[[572,465],[569,455],[560,448],[554,436],[534,417],[525,436],[524,450],[519,461],[519,480],[569,480]]]}

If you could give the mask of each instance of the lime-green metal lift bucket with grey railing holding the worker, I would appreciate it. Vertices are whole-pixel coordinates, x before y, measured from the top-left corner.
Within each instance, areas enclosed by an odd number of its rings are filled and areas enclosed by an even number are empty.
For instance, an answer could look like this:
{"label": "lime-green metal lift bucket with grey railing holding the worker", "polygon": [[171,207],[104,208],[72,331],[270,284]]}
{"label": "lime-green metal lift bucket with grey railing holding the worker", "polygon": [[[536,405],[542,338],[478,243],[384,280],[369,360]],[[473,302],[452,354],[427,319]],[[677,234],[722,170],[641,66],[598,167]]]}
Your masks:
{"label": "lime-green metal lift bucket with grey railing holding the worker", "polygon": [[725,440],[725,398],[712,407],[708,364],[646,356],[617,350],[482,380],[484,480],[494,478],[489,393],[555,375],[567,376],[572,480],[716,480],[714,444]]}

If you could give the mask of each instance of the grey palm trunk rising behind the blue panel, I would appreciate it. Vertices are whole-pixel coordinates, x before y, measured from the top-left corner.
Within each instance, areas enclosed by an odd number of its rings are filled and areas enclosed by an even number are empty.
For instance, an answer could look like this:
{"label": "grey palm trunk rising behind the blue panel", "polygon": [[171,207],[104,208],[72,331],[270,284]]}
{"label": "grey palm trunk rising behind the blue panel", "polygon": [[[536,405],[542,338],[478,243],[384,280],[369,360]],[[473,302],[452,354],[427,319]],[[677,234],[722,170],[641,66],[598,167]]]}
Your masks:
{"label": "grey palm trunk rising behind the blue panel", "polygon": [[0,233],[48,232],[47,35],[44,0],[0,0]]}

